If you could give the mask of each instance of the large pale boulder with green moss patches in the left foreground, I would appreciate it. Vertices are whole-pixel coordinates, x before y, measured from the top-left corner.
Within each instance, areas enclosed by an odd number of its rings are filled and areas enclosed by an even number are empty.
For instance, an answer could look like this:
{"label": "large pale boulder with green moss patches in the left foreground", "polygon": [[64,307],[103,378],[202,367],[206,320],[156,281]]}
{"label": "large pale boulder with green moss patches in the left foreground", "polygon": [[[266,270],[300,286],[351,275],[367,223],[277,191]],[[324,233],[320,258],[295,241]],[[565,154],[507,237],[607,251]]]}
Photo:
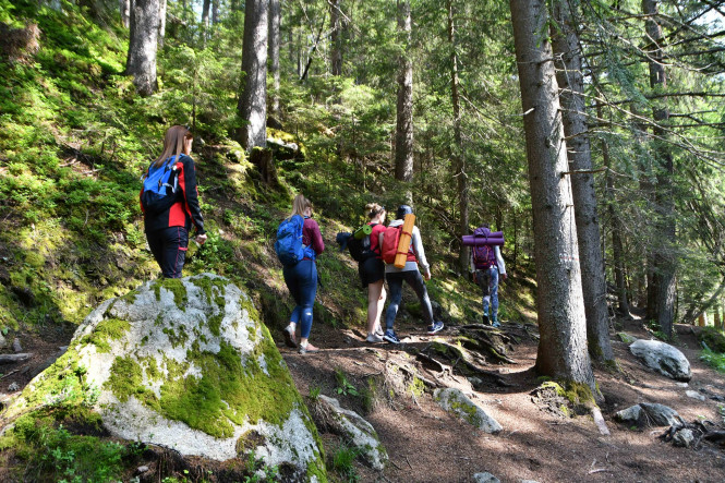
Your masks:
{"label": "large pale boulder with green moss patches in the left foreground", "polygon": [[326,480],[317,431],[269,331],[250,298],[212,274],[101,303],[2,419],[48,407],[90,409],[113,436],[183,456],[253,451],[288,480]]}

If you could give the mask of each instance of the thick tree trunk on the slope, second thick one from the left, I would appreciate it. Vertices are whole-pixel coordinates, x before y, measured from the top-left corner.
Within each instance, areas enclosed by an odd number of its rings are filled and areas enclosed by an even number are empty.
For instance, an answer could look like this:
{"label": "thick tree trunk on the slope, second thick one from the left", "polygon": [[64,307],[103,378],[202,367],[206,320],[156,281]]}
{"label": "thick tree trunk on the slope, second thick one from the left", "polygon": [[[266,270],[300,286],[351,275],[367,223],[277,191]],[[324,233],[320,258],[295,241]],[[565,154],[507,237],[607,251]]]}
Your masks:
{"label": "thick tree trunk on the slope, second thick one from the left", "polygon": [[242,43],[242,95],[237,110],[246,124],[238,130],[247,150],[267,145],[267,11],[269,0],[247,0]]}

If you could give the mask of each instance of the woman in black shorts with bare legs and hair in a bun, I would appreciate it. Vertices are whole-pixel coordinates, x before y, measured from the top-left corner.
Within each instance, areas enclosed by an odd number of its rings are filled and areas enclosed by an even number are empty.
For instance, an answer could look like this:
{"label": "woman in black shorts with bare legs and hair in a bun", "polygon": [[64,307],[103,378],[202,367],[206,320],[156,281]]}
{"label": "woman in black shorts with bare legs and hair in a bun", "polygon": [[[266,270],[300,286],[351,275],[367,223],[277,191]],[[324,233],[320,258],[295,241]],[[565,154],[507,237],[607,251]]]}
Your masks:
{"label": "woman in black shorts with bare legs and hair in a bun", "polygon": [[365,213],[373,227],[370,233],[370,250],[372,256],[358,264],[358,273],[363,288],[367,287],[367,342],[382,342],[380,314],[385,305],[385,263],[380,256],[379,236],[385,232],[385,206],[377,203],[365,205]]}

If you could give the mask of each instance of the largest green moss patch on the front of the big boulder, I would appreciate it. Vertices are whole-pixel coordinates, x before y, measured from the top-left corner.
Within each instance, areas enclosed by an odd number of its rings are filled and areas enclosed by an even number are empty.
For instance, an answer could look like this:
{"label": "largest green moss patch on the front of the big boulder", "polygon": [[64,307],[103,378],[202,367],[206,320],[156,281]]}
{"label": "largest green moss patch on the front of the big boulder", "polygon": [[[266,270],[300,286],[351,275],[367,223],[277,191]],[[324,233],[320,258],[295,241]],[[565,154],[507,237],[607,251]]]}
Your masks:
{"label": "largest green moss patch on the front of the big boulder", "polygon": [[[217,353],[201,351],[194,343],[186,353],[188,362],[165,358],[161,367],[146,359],[140,363],[117,358],[106,385],[122,402],[134,396],[164,416],[215,437],[231,436],[232,423],[241,425],[245,420],[281,425],[295,403],[303,404],[266,327],[262,330],[265,337],[244,361],[228,342],[222,341]],[[258,358],[264,358],[269,375]],[[191,366],[201,375],[186,375]],[[158,379],[164,370],[168,374],[157,399],[144,385],[144,371],[147,379]]]}

